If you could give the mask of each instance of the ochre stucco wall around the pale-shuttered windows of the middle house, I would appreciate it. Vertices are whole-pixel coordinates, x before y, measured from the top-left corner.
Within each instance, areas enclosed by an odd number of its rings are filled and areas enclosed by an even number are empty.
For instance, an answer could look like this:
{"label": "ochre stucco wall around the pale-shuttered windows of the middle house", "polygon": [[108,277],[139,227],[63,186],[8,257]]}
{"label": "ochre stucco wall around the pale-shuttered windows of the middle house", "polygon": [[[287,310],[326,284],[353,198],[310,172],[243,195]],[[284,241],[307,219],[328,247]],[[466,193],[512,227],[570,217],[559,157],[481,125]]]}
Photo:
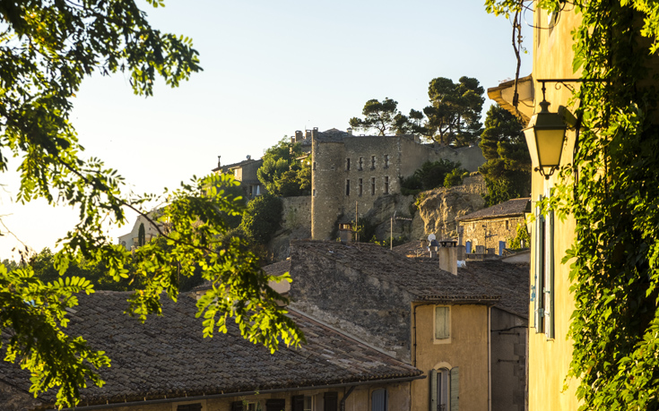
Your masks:
{"label": "ochre stucco wall around the pale-shuttered windows of the middle house", "polygon": [[[488,409],[488,307],[451,305],[450,343],[437,344],[434,338],[435,304],[412,304],[416,311],[415,366],[429,375],[442,366],[459,367],[460,411]],[[413,323],[412,323],[413,327]],[[413,342],[412,342],[413,344]],[[412,358],[415,353],[412,347]],[[429,378],[412,381],[412,410],[428,411]],[[395,409],[395,408],[390,408]]]}

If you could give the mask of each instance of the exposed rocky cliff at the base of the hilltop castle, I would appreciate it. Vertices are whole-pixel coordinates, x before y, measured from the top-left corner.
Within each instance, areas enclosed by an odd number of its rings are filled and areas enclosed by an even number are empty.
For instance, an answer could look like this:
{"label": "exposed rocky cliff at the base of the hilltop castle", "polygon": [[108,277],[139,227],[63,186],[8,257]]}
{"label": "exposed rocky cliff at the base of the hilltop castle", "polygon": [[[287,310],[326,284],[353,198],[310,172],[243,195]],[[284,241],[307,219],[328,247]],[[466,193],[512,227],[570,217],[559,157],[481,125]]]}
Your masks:
{"label": "exposed rocky cliff at the base of the hilltop castle", "polygon": [[[420,193],[417,196],[420,199],[418,206],[414,206],[416,200],[412,195],[383,195],[371,210],[360,210],[360,225],[368,224],[377,240],[384,240],[389,238],[391,218],[395,214],[396,218],[402,218],[394,220],[395,238],[403,235],[409,241],[415,241],[426,238],[430,233],[438,237],[455,236],[455,218],[481,210],[485,206],[481,195],[483,193],[486,193],[485,182],[482,176],[476,174],[465,177],[462,185]],[[284,200],[282,229],[276,233],[268,247],[274,260],[284,260],[289,256],[291,239],[311,236],[310,197]],[[362,242],[369,240],[360,238]]]}

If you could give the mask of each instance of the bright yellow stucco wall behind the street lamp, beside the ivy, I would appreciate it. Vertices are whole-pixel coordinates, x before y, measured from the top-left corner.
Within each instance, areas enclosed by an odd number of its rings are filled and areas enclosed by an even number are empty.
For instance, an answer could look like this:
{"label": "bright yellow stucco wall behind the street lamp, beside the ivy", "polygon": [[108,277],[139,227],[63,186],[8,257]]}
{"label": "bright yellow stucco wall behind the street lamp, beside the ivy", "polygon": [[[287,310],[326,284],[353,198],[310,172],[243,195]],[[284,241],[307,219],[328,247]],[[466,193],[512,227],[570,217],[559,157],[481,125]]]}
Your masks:
{"label": "bright yellow stucco wall behind the street lamp, beside the ivy", "polygon": [[[547,28],[551,24],[545,11],[536,12],[535,25]],[[535,79],[535,107],[542,100],[542,83],[539,79],[574,79],[578,73],[572,72],[572,37],[570,31],[579,19],[573,12],[560,13],[559,21],[552,30],[536,29],[533,34],[533,79]],[[578,84],[570,83],[578,87]],[[565,86],[557,90],[555,83],[547,83],[546,98],[551,102],[550,111],[557,112],[559,106],[566,106],[574,113],[574,107],[568,106],[571,92]],[[575,134],[568,131],[568,141],[563,148],[561,164],[572,161],[572,148]],[[558,174],[558,173],[556,173]],[[558,184],[558,176],[551,176],[546,181],[540,174],[533,172],[532,209],[539,195],[545,195],[551,186]],[[572,358],[572,343],[567,340],[569,318],[574,311],[574,299],[569,293],[569,264],[560,261],[565,251],[574,242],[575,222],[573,218],[566,221],[554,219],[554,327],[555,338],[548,340],[543,333],[529,330],[529,410],[530,411],[572,411],[578,407],[577,381],[571,381],[567,390],[563,390],[568,366]],[[533,225],[532,225],[533,226]],[[533,244],[535,227],[532,229],[531,285],[534,285],[536,250]],[[531,325],[533,326],[533,304],[530,305]]]}

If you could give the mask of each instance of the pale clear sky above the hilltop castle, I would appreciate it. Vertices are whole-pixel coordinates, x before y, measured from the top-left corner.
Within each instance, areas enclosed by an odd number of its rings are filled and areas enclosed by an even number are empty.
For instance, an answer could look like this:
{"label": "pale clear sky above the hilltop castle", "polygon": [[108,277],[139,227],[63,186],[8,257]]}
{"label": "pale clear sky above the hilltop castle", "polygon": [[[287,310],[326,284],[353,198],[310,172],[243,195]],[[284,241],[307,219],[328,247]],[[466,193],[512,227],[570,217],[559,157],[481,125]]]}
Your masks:
{"label": "pale clear sky above the hilltop castle", "polygon": [[[133,94],[128,74],[94,74],[82,81],[71,116],[82,155],[116,168],[136,193],[162,193],[205,176],[217,156],[222,164],[260,158],[296,130],[345,130],[371,98],[394,98],[405,114],[422,109],[436,77],[475,77],[487,90],[516,72],[510,22],[487,14],[480,1],[140,4],[154,28],[193,39],[204,71],[178,89],[156,83],[151,98]],[[528,26],[524,33],[530,47]],[[530,49],[520,75],[529,73]],[[482,120],[492,103],[486,99]],[[18,165],[10,158],[10,169]],[[15,203],[15,172],[2,184],[0,261],[16,259],[15,249],[25,245],[56,249],[75,212],[45,201]],[[108,233],[116,242],[133,222],[131,215]]]}

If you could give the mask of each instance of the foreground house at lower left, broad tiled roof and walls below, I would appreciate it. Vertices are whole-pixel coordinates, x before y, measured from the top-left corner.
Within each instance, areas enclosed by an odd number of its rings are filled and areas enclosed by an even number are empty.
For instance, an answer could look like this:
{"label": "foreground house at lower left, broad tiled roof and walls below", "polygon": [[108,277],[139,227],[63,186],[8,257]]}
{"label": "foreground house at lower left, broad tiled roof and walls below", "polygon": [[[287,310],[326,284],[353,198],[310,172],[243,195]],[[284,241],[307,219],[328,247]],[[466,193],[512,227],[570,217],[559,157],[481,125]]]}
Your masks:
{"label": "foreground house at lower left, broad tiled roof and walls below", "polygon": [[[67,332],[106,351],[103,387],[83,388],[76,410],[112,411],[385,411],[410,409],[410,364],[290,310],[307,338],[273,355],[242,338],[235,324],[203,338],[195,298],[163,300],[163,316],[144,324],[123,312],[130,293],[79,295]],[[55,392],[34,398],[30,374],[0,363],[4,411],[52,407]]]}

